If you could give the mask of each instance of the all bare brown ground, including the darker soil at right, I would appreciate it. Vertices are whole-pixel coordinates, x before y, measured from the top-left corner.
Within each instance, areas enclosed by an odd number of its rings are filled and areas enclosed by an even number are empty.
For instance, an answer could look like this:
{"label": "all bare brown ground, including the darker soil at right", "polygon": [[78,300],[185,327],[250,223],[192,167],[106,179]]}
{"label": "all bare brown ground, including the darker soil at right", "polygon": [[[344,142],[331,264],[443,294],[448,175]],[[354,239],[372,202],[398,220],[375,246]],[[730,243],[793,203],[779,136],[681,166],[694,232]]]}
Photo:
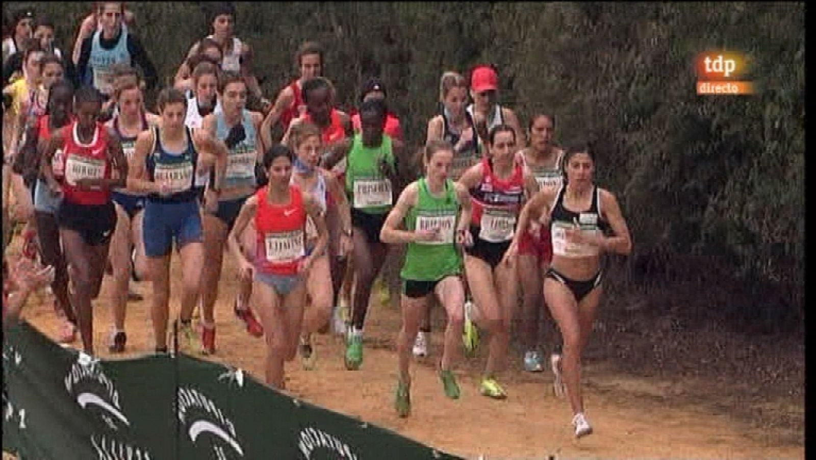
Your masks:
{"label": "all bare brown ground, including the darker soil at right", "polygon": [[[225,263],[216,310],[218,353],[213,359],[263,380],[263,341],[250,337],[232,313],[235,267],[229,257]],[[173,270],[178,280],[179,266]],[[95,301],[95,343],[105,358],[112,357],[106,347],[109,286],[106,280]],[[149,288],[136,284],[146,298],[129,304],[128,353],[119,357],[153,350]],[[178,288],[174,284],[174,292]],[[43,299],[33,297],[25,316],[56,337],[51,301]],[[552,395],[551,374],[522,371],[517,351],[501,380],[508,400],[478,394],[484,356],[459,365],[462,397],[446,399],[433,367],[441,353],[438,323],[431,357],[412,367],[412,414],[397,418],[392,395],[400,319],[397,310],[379,302],[370,309],[360,371],[345,370],[339,337],[318,336],[317,368],[304,371],[295,360],[287,367],[287,386],[305,400],[466,458],[805,457],[802,337],[750,341],[716,326],[689,330],[676,315],[649,313],[654,309],[648,302],[629,305],[601,306],[583,371],[586,408],[595,432],[582,440],[574,440],[568,404]],[[171,310],[177,309],[173,296]]]}

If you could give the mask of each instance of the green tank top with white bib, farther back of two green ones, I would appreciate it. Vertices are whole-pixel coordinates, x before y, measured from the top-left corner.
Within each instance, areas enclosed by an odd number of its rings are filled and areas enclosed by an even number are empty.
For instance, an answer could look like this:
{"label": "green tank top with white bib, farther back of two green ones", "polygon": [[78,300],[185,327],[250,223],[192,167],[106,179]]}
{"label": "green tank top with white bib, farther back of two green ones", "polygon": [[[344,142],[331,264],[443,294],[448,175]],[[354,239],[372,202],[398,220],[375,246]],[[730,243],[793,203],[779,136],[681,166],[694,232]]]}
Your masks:
{"label": "green tank top with white bib, farther back of two green ones", "polygon": [[379,170],[379,163],[386,161],[394,166],[391,137],[383,134],[378,147],[362,145],[362,135],[355,134],[348,152],[346,193],[352,208],[369,214],[384,214],[393,204],[392,184]]}

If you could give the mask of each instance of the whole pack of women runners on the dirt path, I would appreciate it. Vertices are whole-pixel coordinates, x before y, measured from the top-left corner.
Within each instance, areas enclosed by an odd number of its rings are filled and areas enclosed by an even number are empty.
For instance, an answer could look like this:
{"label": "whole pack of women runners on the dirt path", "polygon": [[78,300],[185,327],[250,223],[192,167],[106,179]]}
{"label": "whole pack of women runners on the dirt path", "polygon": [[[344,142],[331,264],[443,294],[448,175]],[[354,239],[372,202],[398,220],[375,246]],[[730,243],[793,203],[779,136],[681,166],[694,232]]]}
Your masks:
{"label": "whole pack of women runners on the dirt path", "polygon": [[[361,369],[372,286],[389,248],[404,247],[401,417],[410,414],[412,355],[428,354],[439,305],[438,374],[449,398],[460,395],[460,350],[479,347],[487,354],[479,391],[507,397],[499,376],[514,319],[525,368],[543,370],[538,324],[549,314],[560,331],[549,356],[554,389],[569,400],[575,435],[592,432],[580,360],[601,298],[601,259],[632,247],[614,194],[593,181],[592,149],[555,145],[552,114],[534,114],[522,129],[499,105],[488,65],[469,78],[441,75],[440,110],[419,151],[403,142],[378,78],[361,89],[355,114],[335,108],[316,42],[295,54],[299,77],[266,100],[235,19],[232,5],[212,7],[211,35],[193,44],[152,114],[143,98],[156,70],[122,2],[94,4],[71,55],[53,46],[50,21],[15,16],[3,42],[3,209],[11,184],[23,255],[50,267],[22,285],[50,283],[60,342],[78,332],[95,351],[91,302],[108,272],[109,351],[126,349],[130,284],[144,280],[153,286],[155,351],[177,337],[182,351],[216,353],[226,251],[237,262],[234,314],[266,341],[269,385],[284,388],[284,364],[297,355],[314,368],[313,335],[329,325],[346,337],[346,368]],[[168,333],[174,253],[180,312]]]}

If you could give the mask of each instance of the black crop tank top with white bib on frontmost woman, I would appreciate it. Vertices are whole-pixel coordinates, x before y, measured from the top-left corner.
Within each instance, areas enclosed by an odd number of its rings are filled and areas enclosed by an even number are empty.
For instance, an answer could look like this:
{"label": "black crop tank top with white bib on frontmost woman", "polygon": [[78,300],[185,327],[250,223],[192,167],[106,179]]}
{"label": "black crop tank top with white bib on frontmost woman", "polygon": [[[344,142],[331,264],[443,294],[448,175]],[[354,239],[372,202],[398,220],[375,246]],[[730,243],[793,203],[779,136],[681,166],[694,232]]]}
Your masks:
{"label": "black crop tank top with white bib on frontmost woman", "polygon": [[566,230],[577,224],[584,234],[597,234],[609,228],[601,217],[601,194],[598,187],[592,190],[592,204],[584,212],[572,212],[564,207],[566,187],[561,185],[555,202],[552,203],[550,215],[550,235],[552,239],[552,253],[561,257],[594,257],[599,254],[598,247],[586,243],[569,243],[566,240]]}

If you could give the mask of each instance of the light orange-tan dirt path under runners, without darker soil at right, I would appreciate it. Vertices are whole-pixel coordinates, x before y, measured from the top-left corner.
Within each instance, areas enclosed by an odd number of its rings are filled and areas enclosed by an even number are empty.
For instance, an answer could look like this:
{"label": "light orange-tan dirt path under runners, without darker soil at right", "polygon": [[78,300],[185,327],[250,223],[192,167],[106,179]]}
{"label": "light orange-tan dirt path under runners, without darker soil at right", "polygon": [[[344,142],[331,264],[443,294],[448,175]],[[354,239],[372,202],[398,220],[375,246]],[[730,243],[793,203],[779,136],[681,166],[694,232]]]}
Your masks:
{"label": "light orange-tan dirt path under runners, without darker soil at right", "polygon": [[[236,272],[228,257],[225,261],[216,310],[218,354],[214,359],[262,376],[263,342],[246,334],[232,313]],[[173,270],[178,279],[179,267]],[[129,304],[129,353],[125,357],[153,349],[149,284],[136,286],[146,299]],[[109,287],[106,279],[100,299],[95,301],[95,341],[104,357],[110,357],[106,345],[111,324],[110,310],[106,308]],[[178,286],[174,284],[173,288],[177,292]],[[50,301],[39,303],[33,297],[26,317],[56,337],[57,324],[50,305]],[[172,296],[171,310],[177,309],[177,297]],[[434,356],[441,351],[439,328],[432,335],[432,357],[412,367],[412,415],[400,419],[392,409],[397,369],[393,339],[398,328],[397,310],[372,306],[366,326],[365,361],[359,372],[344,369],[339,337],[318,336],[317,368],[307,372],[297,360],[290,364],[288,388],[305,400],[466,458],[805,457],[803,443],[787,440],[774,431],[751,428],[731,418],[727,410],[714,412],[700,404],[678,404],[672,395],[683,391],[683,382],[625,377],[602,362],[584,366],[587,413],[595,433],[579,441],[574,440],[570,429],[568,405],[552,395],[548,373],[510,371],[503,379],[508,400],[494,401],[478,394],[477,360],[459,366],[462,397],[448,400],[433,370]]]}

